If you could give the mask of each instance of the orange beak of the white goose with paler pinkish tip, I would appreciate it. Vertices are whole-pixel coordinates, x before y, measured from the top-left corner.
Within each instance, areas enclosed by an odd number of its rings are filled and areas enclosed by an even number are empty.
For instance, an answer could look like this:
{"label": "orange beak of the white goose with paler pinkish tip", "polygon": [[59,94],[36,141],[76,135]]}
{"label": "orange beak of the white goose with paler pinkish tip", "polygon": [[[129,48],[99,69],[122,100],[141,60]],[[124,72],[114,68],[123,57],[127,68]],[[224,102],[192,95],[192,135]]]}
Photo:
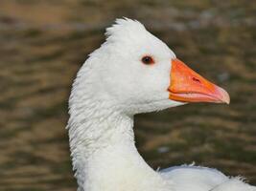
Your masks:
{"label": "orange beak of the white goose with paler pinkish tip", "polygon": [[181,102],[215,102],[229,104],[230,98],[221,87],[203,78],[178,59],[172,61],[169,98]]}

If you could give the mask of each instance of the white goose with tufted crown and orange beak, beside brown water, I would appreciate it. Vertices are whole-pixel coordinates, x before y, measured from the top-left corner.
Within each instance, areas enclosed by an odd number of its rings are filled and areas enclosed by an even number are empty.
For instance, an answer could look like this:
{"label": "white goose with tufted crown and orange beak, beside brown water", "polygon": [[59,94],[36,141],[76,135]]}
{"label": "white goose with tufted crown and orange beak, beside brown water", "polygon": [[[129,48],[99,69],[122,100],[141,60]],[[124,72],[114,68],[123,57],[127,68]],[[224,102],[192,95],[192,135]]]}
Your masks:
{"label": "white goose with tufted crown and orange beak, beside brown water", "polygon": [[133,116],[228,94],[178,60],[138,21],[117,19],[73,84],[68,130],[79,191],[255,191],[196,166],[157,172],[134,145]]}

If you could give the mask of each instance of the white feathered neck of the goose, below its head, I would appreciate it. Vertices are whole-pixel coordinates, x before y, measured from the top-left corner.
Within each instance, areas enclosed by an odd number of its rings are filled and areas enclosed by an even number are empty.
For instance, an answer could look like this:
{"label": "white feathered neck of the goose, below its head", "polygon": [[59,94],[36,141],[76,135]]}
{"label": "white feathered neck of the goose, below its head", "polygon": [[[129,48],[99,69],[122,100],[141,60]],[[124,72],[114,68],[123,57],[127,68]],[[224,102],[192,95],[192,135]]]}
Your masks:
{"label": "white feathered neck of the goose, below its head", "polygon": [[71,114],[68,125],[79,190],[167,190],[168,183],[135,147],[133,117],[109,107],[86,108],[81,115]]}

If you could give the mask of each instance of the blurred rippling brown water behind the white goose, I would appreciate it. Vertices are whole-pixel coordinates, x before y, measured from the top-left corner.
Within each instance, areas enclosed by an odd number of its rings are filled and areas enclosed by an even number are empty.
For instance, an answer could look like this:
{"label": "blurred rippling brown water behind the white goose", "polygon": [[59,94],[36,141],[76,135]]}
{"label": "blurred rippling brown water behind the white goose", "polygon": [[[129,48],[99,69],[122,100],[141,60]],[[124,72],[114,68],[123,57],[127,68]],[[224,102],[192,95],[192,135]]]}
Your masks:
{"label": "blurred rippling brown water behind the white goose", "polygon": [[191,163],[256,183],[256,1],[1,0],[0,190],[75,191],[65,125],[75,74],[117,17],[138,19],[230,93],[139,115],[156,169]]}

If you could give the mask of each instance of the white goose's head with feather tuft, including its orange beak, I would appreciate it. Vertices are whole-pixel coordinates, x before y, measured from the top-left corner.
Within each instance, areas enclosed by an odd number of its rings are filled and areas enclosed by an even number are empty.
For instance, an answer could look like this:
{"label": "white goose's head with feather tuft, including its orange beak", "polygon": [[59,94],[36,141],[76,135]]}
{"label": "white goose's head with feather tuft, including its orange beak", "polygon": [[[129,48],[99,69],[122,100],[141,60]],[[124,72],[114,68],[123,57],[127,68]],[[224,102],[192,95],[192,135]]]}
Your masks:
{"label": "white goose's head with feather tuft, including its orange beak", "polygon": [[[128,115],[188,102],[229,103],[228,94],[194,72],[138,21],[117,19],[88,64],[95,97]],[[85,64],[86,65],[86,64]],[[95,70],[96,69],[96,70]]]}

